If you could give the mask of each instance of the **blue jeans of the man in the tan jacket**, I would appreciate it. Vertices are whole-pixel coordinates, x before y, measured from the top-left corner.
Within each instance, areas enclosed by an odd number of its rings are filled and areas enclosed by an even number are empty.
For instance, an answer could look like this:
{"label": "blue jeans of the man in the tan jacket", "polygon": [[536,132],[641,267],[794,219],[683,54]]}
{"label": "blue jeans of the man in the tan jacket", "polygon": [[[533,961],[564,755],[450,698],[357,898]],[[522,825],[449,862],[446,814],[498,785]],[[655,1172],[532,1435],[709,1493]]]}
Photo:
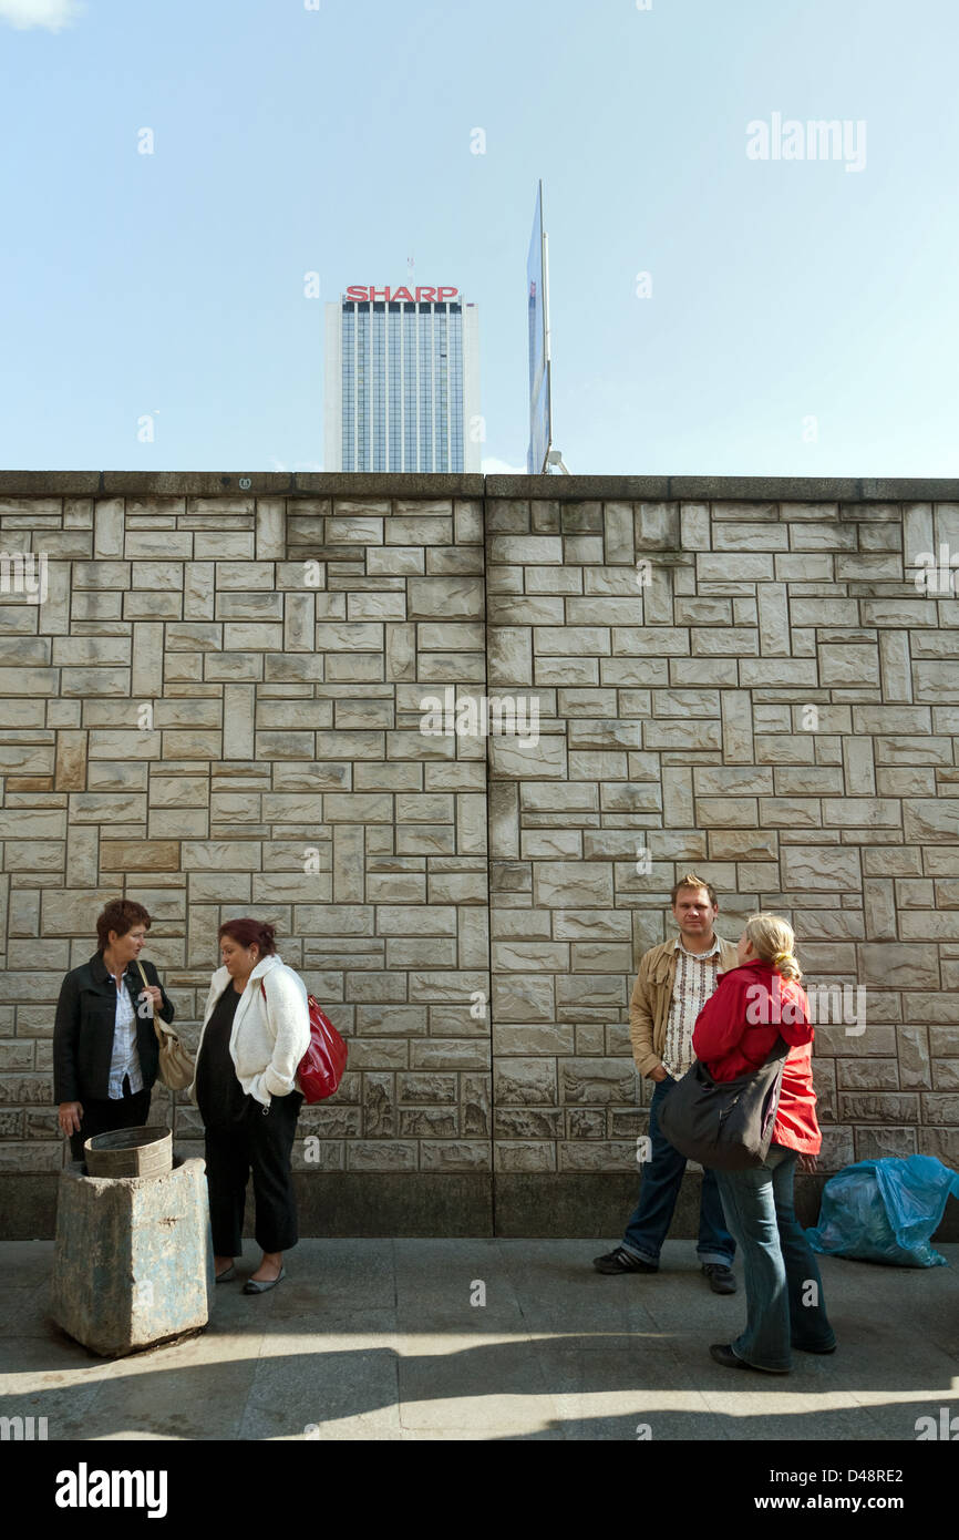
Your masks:
{"label": "blue jeans of the man in the tan jacket", "polygon": [[[639,1203],[627,1224],[622,1240],[623,1250],[640,1261],[659,1263],[662,1243],[673,1223],[673,1210],[679,1198],[687,1157],[673,1149],[659,1130],[659,1109],[676,1081],[671,1075],[660,1080],[650,1104],[650,1161],[643,1167]],[[723,1223],[722,1200],[716,1186],[716,1172],[703,1170],[699,1200],[699,1241],[696,1255],[700,1263],[716,1261],[728,1267],[736,1252],[736,1241]]]}

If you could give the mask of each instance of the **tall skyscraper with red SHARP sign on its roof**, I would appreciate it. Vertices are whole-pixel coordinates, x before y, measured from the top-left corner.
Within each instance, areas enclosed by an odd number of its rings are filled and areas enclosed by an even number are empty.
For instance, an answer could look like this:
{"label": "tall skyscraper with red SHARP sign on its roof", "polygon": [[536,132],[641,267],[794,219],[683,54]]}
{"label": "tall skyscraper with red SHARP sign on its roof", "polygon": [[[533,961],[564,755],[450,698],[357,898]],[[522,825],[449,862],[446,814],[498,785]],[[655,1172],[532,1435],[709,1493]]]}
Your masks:
{"label": "tall skyscraper with red SHARP sign on its roof", "polygon": [[326,305],[328,471],[479,471],[477,308],[457,288],[351,283]]}

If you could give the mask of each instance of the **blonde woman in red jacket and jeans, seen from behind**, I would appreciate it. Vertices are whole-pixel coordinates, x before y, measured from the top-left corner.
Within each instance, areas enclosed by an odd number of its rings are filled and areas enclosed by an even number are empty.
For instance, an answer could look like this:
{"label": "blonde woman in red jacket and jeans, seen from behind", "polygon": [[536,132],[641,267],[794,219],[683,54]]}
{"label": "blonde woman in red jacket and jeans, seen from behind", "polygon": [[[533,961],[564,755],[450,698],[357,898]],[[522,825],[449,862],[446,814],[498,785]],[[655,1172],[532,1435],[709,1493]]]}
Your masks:
{"label": "blonde woman in red jacket and jeans, seen from behind", "polygon": [[747,1326],[734,1343],[710,1348],[730,1369],[788,1374],[790,1348],[833,1352],[822,1278],[793,1207],[793,1175],[810,1164],[822,1135],[813,1090],[813,1027],[794,953],[777,915],[753,915],[739,938],[739,967],[723,973],[696,1018],[693,1052],[714,1080],[759,1069],[779,1035],[790,1044],[770,1153],[751,1170],[717,1170],[727,1224],[742,1247]]}

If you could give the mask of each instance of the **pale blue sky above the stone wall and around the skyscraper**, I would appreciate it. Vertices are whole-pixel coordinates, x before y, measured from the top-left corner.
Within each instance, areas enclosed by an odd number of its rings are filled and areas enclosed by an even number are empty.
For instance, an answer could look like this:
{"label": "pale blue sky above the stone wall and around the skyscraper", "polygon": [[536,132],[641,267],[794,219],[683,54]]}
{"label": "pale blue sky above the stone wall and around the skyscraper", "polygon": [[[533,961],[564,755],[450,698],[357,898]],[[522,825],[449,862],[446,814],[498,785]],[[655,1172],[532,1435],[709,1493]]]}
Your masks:
{"label": "pale blue sky above the stone wall and around the skyscraper", "polygon": [[[573,471],[956,476],[957,45],[956,0],[0,0],[0,467],[320,470],[322,302],[414,256],[525,470],[542,176]],[[865,166],[750,159],[773,114]]]}

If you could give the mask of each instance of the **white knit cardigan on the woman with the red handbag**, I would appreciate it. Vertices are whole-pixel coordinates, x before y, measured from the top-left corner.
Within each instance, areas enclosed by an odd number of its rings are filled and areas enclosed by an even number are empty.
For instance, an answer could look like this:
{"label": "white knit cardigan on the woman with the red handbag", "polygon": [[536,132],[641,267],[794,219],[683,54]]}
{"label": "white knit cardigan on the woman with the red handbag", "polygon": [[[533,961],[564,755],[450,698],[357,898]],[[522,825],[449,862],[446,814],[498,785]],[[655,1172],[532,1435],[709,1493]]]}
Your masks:
{"label": "white knit cardigan on the woman with the red handbag", "polygon": [[[266,990],[260,989],[260,981]],[[229,973],[219,967],[209,981],[203,1029],[197,1044],[197,1064],[203,1047],[206,1023],[212,1007],[229,984]],[[286,1096],[299,1090],[297,1067],[309,1047],[309,1007],[306,986],[299,973],[274,953],[262,958],[254,967],[246,989],[240,995],[237,1013],[229,1033],[229,1056],[237,1070],[237,1080],[248,1096],[265,1107],[274,1096]],[[195,1075],[189,1098],[197,1100]]]}

